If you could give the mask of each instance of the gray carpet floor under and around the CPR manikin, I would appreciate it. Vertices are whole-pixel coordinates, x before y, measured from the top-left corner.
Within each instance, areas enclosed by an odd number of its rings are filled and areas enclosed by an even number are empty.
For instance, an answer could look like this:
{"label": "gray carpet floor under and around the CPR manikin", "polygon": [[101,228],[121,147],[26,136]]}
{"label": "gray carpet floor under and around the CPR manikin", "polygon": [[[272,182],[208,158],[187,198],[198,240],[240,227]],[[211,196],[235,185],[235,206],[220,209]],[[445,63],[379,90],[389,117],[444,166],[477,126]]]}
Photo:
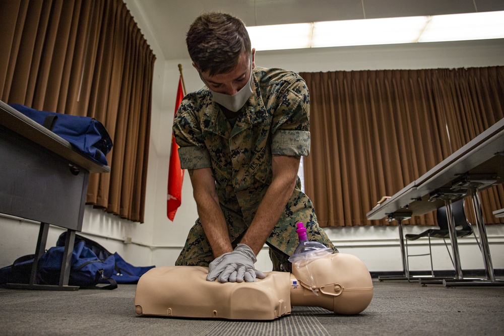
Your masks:
{"label": "gray carpet floor under and around the CPR manikin", "polygon": [[267,322],[138,316],[135,285],[112,291],[0,289],[0,335],[504,334],[504,287],[373,285],[373,300],[359,315],[293,307],[290,316]]}

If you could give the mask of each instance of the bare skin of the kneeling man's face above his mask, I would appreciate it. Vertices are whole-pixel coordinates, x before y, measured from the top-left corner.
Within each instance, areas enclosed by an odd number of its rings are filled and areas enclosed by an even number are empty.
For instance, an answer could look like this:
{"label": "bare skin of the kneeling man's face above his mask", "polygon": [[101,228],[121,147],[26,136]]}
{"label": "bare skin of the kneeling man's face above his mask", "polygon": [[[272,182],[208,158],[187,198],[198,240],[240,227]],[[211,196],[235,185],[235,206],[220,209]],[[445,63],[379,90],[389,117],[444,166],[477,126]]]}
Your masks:
{"label": "bare skin of the kneeling man's face above his mask", "polygon": [[[255,68],[254,56],[256,49],[252,49],[252,69]],[[195,63],[193,66],[198,70]],[[242,53],[235,68],[226,74],[210,76],[210,72],[201,73],[210,90],[226,95],[234,95],[242,89],[250,77],[250,59],[247,53]]]}

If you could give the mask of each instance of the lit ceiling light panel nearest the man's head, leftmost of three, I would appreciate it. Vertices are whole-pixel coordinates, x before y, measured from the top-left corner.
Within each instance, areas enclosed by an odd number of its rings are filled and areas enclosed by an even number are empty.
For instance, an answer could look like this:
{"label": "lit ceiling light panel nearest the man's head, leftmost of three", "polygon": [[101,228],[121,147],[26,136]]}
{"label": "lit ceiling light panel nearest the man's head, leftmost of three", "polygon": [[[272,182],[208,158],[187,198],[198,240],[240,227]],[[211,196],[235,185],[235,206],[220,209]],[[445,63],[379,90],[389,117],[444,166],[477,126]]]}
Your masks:
{"label": "lit ceiling light panel nearest the man's head, leftmost of three", "polygon": [[247,27],[256,50],[309,48],[312,23]]}

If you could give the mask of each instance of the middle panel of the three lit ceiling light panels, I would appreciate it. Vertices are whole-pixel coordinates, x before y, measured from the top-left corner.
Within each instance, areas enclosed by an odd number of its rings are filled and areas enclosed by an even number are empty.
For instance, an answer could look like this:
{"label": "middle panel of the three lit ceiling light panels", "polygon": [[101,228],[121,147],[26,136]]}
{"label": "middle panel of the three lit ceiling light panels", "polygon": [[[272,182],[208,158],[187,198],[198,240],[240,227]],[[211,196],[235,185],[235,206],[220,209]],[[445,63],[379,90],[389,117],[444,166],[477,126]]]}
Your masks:
{"label": "middle panel of the three lit ceiling light panels", "polygon": [[428,21],[426,16],[415,16],[315,22],[311,47],[413,43]]}

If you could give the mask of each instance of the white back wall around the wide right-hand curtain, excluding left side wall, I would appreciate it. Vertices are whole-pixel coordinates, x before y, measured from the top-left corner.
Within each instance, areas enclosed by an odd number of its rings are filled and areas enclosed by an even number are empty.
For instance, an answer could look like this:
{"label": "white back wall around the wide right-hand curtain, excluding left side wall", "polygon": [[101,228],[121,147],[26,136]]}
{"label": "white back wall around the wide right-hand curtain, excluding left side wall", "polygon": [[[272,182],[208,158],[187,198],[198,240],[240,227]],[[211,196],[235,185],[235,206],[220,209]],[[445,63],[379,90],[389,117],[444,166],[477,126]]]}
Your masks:
{"label": "white back wall around the wide right-hand curtain, excluding left side wall", "polygon": [[[431,69],[463,68],[471,66],[504,65],[504,40],[471,42],[404,44],[386,46],[365,46],[326,48],[311,50],[264,51],[256,53],[256,65],[278,66],[296,72],[327,72],[336,70],[379,70],[379,69]],[[168,108],[174,106],[176,85],[178,84],[178,66],[182,64],[187,91],[203,86],[190,59],[166,61],[165,96]],[[171,111],[168,110],[170,113]],[[173,116],[167,115],[163,128],[169,129]],[[160,135],[168,141],[169,132]],[[160,176],[161,177],[161,176]],[[391,190],[394,193],[397,190]],[[374,205],[369,205],[369,211]],[[196,204],[192,197],[192,188],[188,176],[185,176],[182,191],[182,206],[173,223],[162,219],[158,223],[155,241],[161,244],[167,240],[178,244],[177,248],[156,251],[154,259],[174,260],[176,252],[182,247],[185,235],[197,218]],[[407,226],[405,233],[420,232],[421,226]],[[371,271],[398,271],[402,269],[397,226],[364,226],[326,229],[329,237],[341,252],[348,252],[361,258]],[[490,250],[495,268],[504,267],[504,260],[498,257],[504,253],[504,225],[487,227]],[[419,245],[418,245],[419,244]],[[481,254],[474,243],[474,238],[460,239],[462,266],[466,269],[482,268]],[[425,243],[414,244],[417,248],[427,248]],[[443,241],[435,242],[434,266],[438,269],[450,269],[451,261]],[[429,267],[428,259],[411,260],[413,269],[425,270]],[[267,249],[258,256],[259,267],[271,269]]]}

